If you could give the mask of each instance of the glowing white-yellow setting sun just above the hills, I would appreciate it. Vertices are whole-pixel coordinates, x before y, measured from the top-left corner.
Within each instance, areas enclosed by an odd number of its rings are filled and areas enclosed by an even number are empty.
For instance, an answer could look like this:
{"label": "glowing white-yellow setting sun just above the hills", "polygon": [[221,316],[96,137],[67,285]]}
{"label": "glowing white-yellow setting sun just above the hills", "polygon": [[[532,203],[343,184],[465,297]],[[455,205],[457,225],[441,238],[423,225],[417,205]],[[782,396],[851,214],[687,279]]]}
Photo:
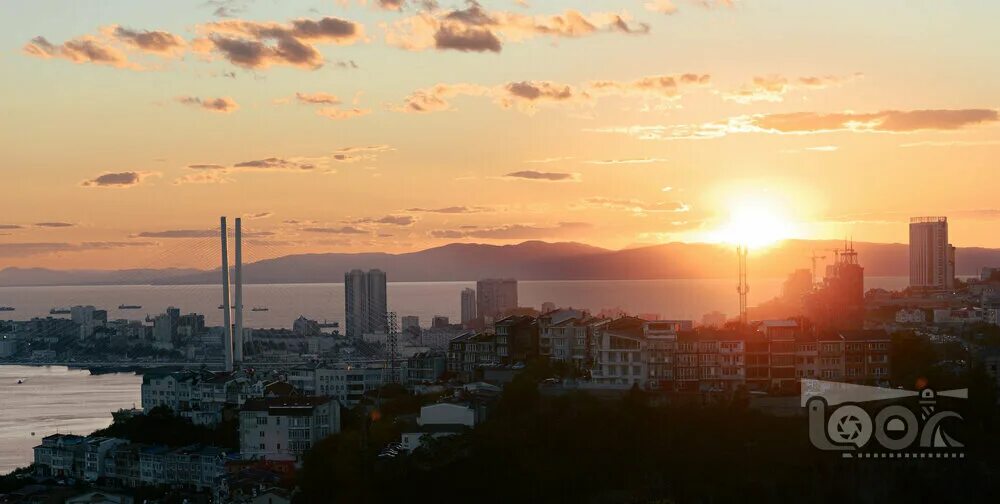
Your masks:
{"label": "glowing white-yellow setting sun just above the hills", "polygon": [[753,197],[733,201],[728,220],[712,234],[716,242],[761,249],[791,238],[795,232],[794,222],[777,200]]}

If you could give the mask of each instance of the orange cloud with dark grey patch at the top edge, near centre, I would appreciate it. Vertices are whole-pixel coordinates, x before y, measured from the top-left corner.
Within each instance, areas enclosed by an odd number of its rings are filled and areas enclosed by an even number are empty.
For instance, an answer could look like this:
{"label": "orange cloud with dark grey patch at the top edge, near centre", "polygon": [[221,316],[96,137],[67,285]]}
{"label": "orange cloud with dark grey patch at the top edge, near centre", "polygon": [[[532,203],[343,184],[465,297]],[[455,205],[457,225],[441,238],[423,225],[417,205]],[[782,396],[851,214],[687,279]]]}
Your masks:
{"label": "orange cloud with dark grey patch at the top edge, near centre", "polygon": [[632,23],[624,13],[585,15],[567,10],[563,14],[528,16],[489,11],[479,2],[467,0],[464,9],[425,10],[391,25],[383,25],[383,29],[386,43],[410,51],[499,53],[506,42],[545,36],[579,38],[601,32],[645,34],[649,32],[649,25]]}

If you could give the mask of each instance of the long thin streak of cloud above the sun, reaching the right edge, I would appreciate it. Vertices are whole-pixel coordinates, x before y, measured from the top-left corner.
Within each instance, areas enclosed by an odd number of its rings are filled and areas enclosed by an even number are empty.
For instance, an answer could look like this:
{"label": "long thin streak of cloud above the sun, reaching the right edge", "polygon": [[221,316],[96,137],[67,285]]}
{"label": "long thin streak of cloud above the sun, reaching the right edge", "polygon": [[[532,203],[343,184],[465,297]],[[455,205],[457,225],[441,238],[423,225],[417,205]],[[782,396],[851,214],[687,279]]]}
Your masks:
{"label": "long thin streak of cloud above the sun, reaching the right edge", "polygon": [[953,131],[1000,120],[992,109],[886,110],[873,113],[795,112],[736,116],[702,124],[621,126],[585,129],[595,133],[629,135],[640,140],[720,138],[738,133],[817,134],[911,133]]}

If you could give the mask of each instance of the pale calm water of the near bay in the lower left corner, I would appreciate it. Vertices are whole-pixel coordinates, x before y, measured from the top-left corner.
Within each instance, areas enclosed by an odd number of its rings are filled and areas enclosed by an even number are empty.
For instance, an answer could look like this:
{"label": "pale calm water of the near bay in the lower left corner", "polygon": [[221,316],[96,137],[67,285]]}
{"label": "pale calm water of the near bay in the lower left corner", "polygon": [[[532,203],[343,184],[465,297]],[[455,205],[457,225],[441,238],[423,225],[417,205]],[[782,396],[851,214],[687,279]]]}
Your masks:
{"label": "pale calm water of the near bay in the lower left corner", "polygon": [[112,411],[139,406],[141,384],[134,374],[0,366],[0,474],[30,464],[32,447],[49,434],[86,435],[111,425]]}

